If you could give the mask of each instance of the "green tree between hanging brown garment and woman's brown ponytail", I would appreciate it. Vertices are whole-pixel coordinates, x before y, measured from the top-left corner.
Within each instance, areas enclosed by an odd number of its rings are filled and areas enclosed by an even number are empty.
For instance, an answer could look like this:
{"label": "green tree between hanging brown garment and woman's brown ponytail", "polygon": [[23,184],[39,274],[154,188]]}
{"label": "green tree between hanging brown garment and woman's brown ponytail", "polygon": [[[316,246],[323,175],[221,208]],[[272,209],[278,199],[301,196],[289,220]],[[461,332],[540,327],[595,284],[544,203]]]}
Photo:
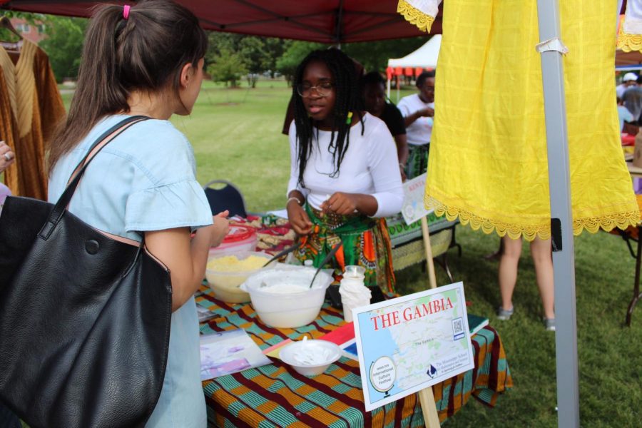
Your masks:
{"label": "green tree between hanging brown garment and woman's brown ponytail", "polygon": [[49,55],[56,81],[78,76],[87,23],[86,19],[66,16],[46,16],[43,20],[47,37],[40,46]]}

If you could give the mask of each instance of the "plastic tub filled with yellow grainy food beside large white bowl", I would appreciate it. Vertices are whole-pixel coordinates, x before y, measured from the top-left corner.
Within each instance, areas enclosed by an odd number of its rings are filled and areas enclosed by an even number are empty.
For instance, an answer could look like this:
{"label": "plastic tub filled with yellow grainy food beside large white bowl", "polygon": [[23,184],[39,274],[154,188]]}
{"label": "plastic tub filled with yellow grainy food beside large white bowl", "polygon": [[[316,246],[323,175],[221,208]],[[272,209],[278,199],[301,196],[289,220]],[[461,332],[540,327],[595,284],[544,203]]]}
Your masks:
{"label": "plastic tub filled with yellow grainy food beside large white bowl", "polygon": [[[258,267],[247,268],[245,260],[254,258]],[[260,260],[257,260],[260,258]],[[261,270],[271,269],[273,263],[263,267],[263,264],[272,258],[267,253],[258,251],[243,251],[240,253],[222,254],[208,259],[208,268],[205,270],[205,278],[218,300],[228,303],[245,303],[250,301],[250,295],[239,288],[250,275]],[[263,263],[261,263],[263,261]],[[234,268],[238,265],[237,268]],[[245,266],[244,266],[245,265]]]}

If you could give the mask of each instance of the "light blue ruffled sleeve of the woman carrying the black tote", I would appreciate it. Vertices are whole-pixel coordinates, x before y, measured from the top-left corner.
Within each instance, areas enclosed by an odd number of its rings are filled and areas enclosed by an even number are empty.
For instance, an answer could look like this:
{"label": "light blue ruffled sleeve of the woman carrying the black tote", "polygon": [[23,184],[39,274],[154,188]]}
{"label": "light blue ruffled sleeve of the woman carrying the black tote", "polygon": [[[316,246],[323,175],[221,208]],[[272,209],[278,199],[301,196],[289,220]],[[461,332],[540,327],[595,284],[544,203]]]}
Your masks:
{"label": "light blue ruffled sleeve of the woman carrying the black tote", "polygon": [[138,190],[127,198],[128,232],[200,228],[212,224],[212,211],[196,180],[183,180]]}

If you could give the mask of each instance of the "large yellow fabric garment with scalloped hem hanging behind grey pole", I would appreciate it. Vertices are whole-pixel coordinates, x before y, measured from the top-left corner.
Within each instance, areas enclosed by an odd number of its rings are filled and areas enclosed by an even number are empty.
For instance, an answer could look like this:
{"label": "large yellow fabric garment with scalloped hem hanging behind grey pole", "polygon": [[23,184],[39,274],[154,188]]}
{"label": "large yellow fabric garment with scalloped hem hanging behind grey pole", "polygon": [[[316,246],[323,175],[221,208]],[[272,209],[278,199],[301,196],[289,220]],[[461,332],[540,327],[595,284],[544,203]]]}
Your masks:
{"label": "large yellow fabric garment with scalloped hem hanging behind grey pole", "polygon": [[[550,237],[536,3],[444,1],[425,198],[449,220],[527,240]],[[640,217],[618,130],[616,3],[559,2],[576,235]],[[399,11],[429,27],[426,4],[439,1],[402,0]]]}

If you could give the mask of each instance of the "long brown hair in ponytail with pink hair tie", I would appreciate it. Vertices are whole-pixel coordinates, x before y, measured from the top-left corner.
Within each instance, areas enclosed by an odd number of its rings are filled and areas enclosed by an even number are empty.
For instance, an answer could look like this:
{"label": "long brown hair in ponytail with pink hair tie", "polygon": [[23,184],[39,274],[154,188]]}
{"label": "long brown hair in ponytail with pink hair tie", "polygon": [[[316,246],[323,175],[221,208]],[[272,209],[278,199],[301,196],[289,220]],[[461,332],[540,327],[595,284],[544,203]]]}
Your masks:
{"label": "long brown hair in ponytail with pink hair tie", "polygon": [[128,112],[131,91],[178,91],[180,69],[205,56],[198,19],[170,0],[98,6],[88,26],[76,93],[49,150],[49,173],[102,118]]}

